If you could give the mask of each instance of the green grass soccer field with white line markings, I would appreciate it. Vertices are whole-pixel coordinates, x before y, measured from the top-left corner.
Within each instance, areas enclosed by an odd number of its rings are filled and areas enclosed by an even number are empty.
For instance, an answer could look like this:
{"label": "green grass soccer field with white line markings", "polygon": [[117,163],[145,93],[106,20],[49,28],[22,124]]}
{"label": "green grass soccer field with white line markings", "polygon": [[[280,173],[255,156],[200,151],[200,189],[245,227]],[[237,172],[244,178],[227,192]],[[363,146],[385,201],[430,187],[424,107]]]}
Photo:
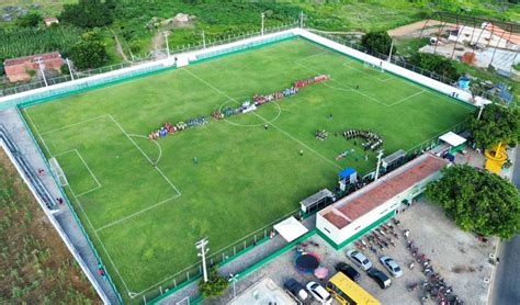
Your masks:
{"label": "green grass soccer field with white line markings", "polygon": [[[210,116],[318,74],[331,79],[255,113],[147,139],[165,122]],[[200,238],[208,237],[210,255],[222,256],[304,197],[332,189],[342,168],[373,169],[375,154],[365,160],[360,144],[340,136],[344,128],[381,134],[389,155],[470,112],[301,38],[23,109],[44,152],[63,167],[69,199],[122,295],[172,285],[173,274],[196,263]],[[316,129],[329,138],[317,140]],[[336,160],[347,149],[355,152]]]}

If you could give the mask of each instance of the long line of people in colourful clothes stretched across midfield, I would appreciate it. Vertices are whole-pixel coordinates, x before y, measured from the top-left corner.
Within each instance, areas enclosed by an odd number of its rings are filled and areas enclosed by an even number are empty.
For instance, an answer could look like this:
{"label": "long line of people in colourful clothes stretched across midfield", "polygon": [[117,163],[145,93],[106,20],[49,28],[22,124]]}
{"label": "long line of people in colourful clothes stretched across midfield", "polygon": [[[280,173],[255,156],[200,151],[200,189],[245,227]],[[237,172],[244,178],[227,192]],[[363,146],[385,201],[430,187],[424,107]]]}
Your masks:
{"label": "long line of people in colourful clothes stretched across midfield", "polygon": [[[315,76],[315,77],[312,77],[312,78],[308,78],[308,79],[297,80],[297,81],[294,82],[294,84],[292,87],[286,88],[282,91],[278,91],[278,92],[267,94],[267,95],[256,94],[255,97],[252,97],[251,100],[247,100],[247,101],[242,102],[237,108],[227,106],[223,110],[215,110],[212,113],[212,116],[216,120],[222,120],[226,116],[231,116],[231,115],[239,114],[239,113],[248,113],[248,112],[257,110],[258,106],[260,106],[264,103],[268,103],[268,102],[271,102],[271,101],[278,101],[278,100],[281,100],[283,98],[294,95],[298,92],[299,88],[306,87],[306,86],[312,84],[312,83],[321,82],[321,81],[325,81],[327,79],[330,79],[329,75],[318,75],[318,76]],[[184,122],[179,122],[174,125],[172,123],[165,123],[165,124],[162,124],[162,126],[159,129],[151,132],[148,135],[148,138],[149,139],[157,139],[157,138],[160,138],[160,137],[166,137],[166,136],[174,134],[179,131],[183,131],[185,128],[197,126],[197,125],[204,125],[206,123],[207,123],[207,118],[204,115],[199,116],[199,117],[194,117],[194,118],[190,118],[185,123]]]}

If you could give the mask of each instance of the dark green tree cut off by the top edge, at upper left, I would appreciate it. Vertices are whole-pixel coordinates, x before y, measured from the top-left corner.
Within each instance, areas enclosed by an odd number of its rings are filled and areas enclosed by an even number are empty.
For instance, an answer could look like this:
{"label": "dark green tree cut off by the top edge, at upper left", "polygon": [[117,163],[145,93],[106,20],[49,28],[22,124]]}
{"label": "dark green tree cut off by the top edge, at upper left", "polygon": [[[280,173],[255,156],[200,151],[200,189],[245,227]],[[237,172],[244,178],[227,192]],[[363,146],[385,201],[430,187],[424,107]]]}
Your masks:
{"label": "dark green tree cut off by the top edge, at upper left", "polygon": [[114,21],[111,12],[113,7],[112,1],[80,0],[77,4],[64,5],[59,19],[80,27],[105,26]]}

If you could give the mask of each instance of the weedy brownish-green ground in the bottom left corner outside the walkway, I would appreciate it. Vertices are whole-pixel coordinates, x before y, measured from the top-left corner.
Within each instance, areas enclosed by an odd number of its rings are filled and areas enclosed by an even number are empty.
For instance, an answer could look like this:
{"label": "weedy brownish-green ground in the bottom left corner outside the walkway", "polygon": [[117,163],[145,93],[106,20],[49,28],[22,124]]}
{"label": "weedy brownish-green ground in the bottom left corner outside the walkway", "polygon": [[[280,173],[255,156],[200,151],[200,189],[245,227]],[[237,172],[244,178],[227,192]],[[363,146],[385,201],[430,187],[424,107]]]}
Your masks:
{"label": "weedy brownish-green ground in the bottom left corner outside the walkway", "polygon": [[0,249],[0,304],[101,304],[2,149]]}

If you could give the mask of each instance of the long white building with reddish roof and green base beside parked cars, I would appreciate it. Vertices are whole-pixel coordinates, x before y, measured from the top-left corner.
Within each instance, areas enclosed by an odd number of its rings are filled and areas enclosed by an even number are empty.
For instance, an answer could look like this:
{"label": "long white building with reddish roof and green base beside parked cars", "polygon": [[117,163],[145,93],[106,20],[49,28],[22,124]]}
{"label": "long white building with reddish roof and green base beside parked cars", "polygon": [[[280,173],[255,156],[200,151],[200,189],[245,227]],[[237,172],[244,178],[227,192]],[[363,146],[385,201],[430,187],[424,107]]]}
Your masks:
{"label": "long white building with reddish roof and green base beside parked cars", "polygon": [[347,246],[398,213],[402,204],[411,203],[448,165],[431,154],[417,157],[321,210],[316,216],[318,234],[336,249]]}

